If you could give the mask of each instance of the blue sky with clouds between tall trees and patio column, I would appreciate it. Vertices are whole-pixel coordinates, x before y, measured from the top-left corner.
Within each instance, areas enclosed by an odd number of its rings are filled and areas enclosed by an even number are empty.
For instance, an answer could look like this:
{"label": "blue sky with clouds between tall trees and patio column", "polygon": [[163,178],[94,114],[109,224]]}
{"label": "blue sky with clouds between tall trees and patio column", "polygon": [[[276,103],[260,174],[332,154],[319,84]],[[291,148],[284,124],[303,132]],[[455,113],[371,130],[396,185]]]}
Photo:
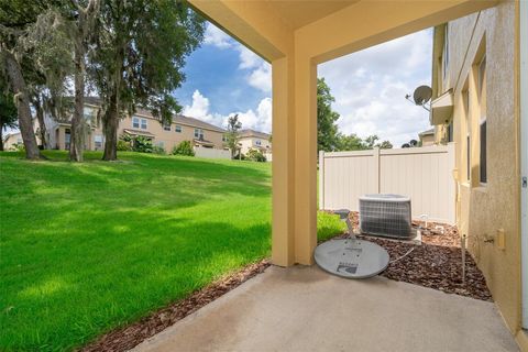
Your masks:
{"label": "blue sky with clouds between tall trees and patio column", "polygon": [[238,113],[242,128],[272,132],[271,65],[212,24],[185,74],[175,92],[185,116],[224,127]]}

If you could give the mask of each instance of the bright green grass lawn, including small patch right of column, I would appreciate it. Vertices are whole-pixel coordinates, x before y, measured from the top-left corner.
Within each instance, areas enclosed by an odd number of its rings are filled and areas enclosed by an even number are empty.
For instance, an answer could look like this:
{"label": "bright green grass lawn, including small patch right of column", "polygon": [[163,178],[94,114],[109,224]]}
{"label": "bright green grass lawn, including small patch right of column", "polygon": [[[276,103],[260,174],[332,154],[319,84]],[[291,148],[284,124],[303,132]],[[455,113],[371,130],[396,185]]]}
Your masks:
{"label": "bright green grass lawn, including small patch right of column", "polygon": [[270,164],[86,154],[0,153],[0,350],[74,349],[270,255]]}

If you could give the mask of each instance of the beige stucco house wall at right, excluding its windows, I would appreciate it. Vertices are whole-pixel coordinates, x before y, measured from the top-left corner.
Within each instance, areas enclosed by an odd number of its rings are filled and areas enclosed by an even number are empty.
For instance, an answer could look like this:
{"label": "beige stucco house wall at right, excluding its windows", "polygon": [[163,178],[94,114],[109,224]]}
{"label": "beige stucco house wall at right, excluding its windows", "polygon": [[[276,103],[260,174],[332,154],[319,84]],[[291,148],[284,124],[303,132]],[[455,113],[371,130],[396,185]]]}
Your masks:
{"label": "beige stucco house wall at right, excluding its windows", "polygon": [[[518,89],[516,3],[449,23],[450,63],[443,90],[454,91],[454,141],[460,194],[461,234],[486,276],[493,297],[514,333],[520,329],[520,229],[518,189]],[[484,51],[484,52],[483,52]],[[475,59],[486,56],[487,183],[479,180],[480,113]],[[469,90],[469,109],[464,105]],[[438,129],[442,132],[442,128]],[[466,135],[471,135],[471,180],[466,172]],[[504,248],[497,231],[504,230]]]}

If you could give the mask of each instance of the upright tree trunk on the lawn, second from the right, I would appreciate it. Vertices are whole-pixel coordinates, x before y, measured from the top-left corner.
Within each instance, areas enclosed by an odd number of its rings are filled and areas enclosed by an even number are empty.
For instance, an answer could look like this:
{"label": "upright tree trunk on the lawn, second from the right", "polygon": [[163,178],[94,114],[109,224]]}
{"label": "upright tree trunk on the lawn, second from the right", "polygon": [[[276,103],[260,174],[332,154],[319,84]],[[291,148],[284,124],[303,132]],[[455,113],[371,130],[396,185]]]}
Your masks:
{"label": "upright tree trunk on the lawn, second from the right", "polygon": [[[81,35],[81,34],[79,34]],[[85,53],[82,38],[77,36],[75,47],[75,110],[72,118],[72,143],[69,144],[69,160],[82,162],[85,144],[84,110],[85,110]]]}

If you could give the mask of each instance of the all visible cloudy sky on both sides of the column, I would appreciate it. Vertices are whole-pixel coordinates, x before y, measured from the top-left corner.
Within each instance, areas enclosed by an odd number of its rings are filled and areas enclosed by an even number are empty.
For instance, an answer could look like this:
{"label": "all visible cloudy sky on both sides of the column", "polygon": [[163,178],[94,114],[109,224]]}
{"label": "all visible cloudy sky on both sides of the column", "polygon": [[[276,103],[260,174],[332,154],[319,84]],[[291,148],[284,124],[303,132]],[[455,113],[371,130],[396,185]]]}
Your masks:
{"label": "all visible cloudy sky on both sides of the column", "polygon": [[[431,36],[431,30],[417,32],[318,66],[342,133],[377,134],[399,146],[430,128],[428,112],[405,95],[430,86]],[[185,73],[175,92],[184,114],[224,125],[239,113],[243,128],[272,132],[271,66],[221,30],[208,24]]]}

